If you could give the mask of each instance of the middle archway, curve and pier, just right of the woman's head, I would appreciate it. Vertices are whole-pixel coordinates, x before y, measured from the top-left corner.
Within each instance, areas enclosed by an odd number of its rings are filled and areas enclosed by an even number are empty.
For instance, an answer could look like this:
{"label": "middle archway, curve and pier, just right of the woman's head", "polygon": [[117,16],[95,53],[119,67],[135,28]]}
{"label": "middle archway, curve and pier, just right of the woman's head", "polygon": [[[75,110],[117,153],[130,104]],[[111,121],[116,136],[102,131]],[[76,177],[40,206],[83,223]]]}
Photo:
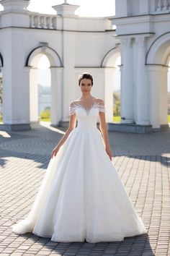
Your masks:
{"label": "middle archway, curve and pier, just right of the woman's head", "polygon": [[113,87],[117,80],[117,59],[120,57],[120,46],[112,48],[102,59],[101,67],[104,68],[104,100],[106,116],[109,123],[113,122]]}

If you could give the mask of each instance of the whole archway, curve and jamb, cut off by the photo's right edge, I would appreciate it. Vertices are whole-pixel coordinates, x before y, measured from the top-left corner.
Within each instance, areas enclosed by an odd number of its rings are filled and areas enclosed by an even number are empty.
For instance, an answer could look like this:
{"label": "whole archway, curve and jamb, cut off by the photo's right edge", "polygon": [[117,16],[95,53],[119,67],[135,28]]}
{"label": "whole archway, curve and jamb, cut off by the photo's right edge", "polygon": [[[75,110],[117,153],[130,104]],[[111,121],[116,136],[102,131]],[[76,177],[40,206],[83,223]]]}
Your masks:
{"label": "whole archway, curve and jamb, cut off by the photo's right edge", "polygon": [[152,43],[146,56],[148,67],[150,120],[153,128],[168,125],[167,74],[170,61],[170,33],[165,33]]}

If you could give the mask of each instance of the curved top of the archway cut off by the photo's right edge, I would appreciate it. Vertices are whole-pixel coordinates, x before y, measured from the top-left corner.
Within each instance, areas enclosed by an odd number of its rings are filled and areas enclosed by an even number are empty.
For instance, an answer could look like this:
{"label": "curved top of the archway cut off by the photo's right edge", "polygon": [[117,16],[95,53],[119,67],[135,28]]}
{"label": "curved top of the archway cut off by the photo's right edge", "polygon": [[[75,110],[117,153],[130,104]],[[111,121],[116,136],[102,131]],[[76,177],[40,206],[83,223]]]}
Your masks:
{"label": "curved top of the archway cut off by the photo's right edge", "polygon": [[146,54],[146,64],[169,66],[170,33],[164,33],[153,41]]}

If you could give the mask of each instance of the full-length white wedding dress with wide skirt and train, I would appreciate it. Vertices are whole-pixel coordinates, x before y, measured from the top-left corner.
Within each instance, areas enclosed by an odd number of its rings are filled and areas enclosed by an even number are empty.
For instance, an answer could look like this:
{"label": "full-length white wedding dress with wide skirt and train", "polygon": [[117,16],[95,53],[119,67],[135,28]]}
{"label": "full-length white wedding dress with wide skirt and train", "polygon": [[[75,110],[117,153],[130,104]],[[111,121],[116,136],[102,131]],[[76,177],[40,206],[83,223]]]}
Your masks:
{"label": "full-length white wedding dress with wide skirt and train", "polygon": [[71,103],[78,125],[50,159],[30,213],[12,227],[15,233],[91,243],[147,233],[97,128],[104,102],[95,98],[87,103]]}

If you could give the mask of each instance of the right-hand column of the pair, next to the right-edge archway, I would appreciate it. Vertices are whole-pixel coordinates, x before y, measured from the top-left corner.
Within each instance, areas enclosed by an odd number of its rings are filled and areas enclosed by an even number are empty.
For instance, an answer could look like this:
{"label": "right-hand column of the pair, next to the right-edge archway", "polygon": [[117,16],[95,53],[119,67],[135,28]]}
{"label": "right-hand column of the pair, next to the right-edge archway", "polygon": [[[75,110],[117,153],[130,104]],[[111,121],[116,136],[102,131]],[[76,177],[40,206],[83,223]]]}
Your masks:
{"label": "right-hand column of the pair, next to the right-edge archway", "polygon": [[149,124],[148,116],[148,77],[146,74],[146,38],[135,38],[138,45],[137,82],[136,82],[136,124]]}

